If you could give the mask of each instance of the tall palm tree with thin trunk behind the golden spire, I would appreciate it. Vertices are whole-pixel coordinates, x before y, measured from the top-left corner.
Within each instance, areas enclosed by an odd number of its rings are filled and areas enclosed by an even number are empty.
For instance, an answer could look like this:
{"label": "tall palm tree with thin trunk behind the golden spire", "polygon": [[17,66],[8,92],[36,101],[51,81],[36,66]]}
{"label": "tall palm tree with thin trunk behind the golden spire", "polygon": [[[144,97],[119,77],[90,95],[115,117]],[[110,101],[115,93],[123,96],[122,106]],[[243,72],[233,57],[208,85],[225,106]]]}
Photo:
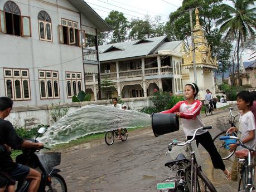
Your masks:
{"label": "tall palm tree with thin trunk behind the golden spire", "polygon": [[238,85],[240,85],[239,73],[239,46],[243,47],[243,43],[249,35],[253,36],[256,30],[256,7],[254,0],[230,0],[234,7],[228,4],[221,4],[221,7],[226,11],[228,16],[219,19],[216,24],[220,25],[220,32],[226,32],[226,38],[238,37],[237,46],[237,65],[238,65]]}

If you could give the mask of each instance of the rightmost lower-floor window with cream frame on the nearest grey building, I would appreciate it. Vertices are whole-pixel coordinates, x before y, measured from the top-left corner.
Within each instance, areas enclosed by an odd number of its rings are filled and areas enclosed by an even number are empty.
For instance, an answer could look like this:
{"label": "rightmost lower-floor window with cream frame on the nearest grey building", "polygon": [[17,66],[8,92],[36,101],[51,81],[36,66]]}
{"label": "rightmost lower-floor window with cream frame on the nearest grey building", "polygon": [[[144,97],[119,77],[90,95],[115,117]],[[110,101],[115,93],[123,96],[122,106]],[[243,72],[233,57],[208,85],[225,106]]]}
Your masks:
{"label": "rightmost lower-floor window with cream frame on the nearest grey building", "polygon": [[[67,77],[67,74],[70,75],[70,77]],[[75,77],[72,75],[75,74]],[[78,75],[80,75],[80,78],[78,78]],[[82,81],[82,73],[81,72],[75,72],[75,71],[65,71],[65,78],[66,78],[66,95],[67,98],[72,98],[74,95],[74,88],[73,88],[73,82],[75,81],[76,83],[76,96],[79,93],[79,87],[78,87],[78,82],[81,83],[81,91],[83,91],[83,81]],[[70,81],[70,88],[71,88],[71,96],[69,95],[68,87],[67,87],[67,82]]]}

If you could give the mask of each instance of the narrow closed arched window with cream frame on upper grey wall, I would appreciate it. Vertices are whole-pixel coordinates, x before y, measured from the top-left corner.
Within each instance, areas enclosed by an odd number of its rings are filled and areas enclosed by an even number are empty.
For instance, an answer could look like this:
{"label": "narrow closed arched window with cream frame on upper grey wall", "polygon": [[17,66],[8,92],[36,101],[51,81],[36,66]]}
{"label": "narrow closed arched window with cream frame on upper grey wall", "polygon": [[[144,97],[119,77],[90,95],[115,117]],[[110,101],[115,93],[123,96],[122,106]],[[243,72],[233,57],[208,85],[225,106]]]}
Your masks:
{"label": "narrow closed arched window with cream frame on upper grey wall", "polygon": [[51,17],[45,11],[38,13],[39,39],[52,41]]}

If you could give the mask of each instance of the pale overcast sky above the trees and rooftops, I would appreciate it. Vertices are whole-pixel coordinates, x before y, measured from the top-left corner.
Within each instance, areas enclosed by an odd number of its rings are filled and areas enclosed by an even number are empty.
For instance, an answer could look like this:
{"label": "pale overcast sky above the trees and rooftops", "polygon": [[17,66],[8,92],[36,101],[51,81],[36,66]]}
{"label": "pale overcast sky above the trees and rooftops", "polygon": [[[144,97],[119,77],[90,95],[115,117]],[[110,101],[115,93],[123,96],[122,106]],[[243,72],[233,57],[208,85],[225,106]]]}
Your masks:
{"label": "pale overcast sky above the trees and rooftops", "polygon": [[[124,16],[131,21],[132,18],[143,19],[147,14],[161,16],[161,22],[167,22],[171,12],[176,11],[182,5],[182,0],[84,0],[94,9],[100,17],[105,19],[112,10],[124,13]],[[224,1],[231,4],[230,1]],[[200,13],[200,10],[199,10]],[[252,52],[243,56],[243,61],[248,61]]]}

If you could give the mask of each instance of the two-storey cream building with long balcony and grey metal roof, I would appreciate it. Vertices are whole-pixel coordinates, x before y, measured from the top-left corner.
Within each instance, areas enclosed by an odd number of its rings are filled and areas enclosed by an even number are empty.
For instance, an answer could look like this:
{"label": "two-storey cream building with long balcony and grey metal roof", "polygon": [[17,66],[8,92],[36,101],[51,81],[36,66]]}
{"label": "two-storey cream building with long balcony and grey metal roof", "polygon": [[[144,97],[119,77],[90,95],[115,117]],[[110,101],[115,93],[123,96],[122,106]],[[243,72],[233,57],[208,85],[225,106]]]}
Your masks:
{"label": "two-storey cream building with long balcony and grey metal roof", "polygon": [[[179,93],[182,86],[183,41],[170,42],[166,36],[99,46],[102,97],[151,96],[153,90]],[[85,74],[86,92],[96,100],[98,71]],[[105,88],[105,89],[104,89]]]}

